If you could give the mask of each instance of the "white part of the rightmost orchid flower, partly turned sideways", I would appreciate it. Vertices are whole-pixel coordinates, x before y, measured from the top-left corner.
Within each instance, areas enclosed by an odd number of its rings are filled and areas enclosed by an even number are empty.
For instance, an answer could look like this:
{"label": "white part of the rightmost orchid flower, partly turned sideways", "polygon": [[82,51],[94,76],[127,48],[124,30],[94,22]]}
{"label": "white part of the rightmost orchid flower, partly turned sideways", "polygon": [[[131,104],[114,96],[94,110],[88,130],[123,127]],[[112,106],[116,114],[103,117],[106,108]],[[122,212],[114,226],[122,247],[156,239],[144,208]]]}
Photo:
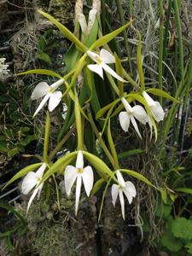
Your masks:
{"label": "white part of the rightmost orchid flower, partly turned sideways", "polygon": [[[154,102],[154,100],[148,95],[146,91],[143,91],[143,97],[146,102],[148,102],[148,107],[151,109],[151,112],[154,114],[154,118],[157,122],[160,122],[164,119],[164,110],[160,105],[160,102]],[[150,123],[148,122],[150,125]]]}

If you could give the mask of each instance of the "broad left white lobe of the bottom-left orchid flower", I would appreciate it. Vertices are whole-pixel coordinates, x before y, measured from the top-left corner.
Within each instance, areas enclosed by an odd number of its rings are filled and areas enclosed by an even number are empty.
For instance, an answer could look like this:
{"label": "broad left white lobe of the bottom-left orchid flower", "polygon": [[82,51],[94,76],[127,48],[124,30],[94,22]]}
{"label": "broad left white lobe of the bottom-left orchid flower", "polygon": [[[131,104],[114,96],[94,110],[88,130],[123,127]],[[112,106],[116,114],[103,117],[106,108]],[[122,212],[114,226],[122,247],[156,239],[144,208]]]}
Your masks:
{"label": "broad left white lobe of the bottom-left orchid flower", "polygon": [[22,185],[21,185],[21,192],[26,195],[29,193],[31,189],[33,189],[36,184],[38,183],[36,173],[35,172],[28,172],[26,177],[24,177]]}

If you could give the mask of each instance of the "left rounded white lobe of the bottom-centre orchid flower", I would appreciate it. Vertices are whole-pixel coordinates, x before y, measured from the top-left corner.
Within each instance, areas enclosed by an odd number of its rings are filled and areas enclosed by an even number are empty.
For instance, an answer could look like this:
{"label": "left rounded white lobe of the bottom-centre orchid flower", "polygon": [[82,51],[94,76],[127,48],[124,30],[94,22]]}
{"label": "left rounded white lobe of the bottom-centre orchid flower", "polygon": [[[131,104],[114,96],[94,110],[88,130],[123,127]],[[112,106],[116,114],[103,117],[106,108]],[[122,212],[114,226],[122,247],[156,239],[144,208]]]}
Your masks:
{"label": "left rounded white lobe of the bottom-centre orchid flower", "polygon": [[74,166],[67,166],[64,172],[65,177],[65,189],[67,195],[70,195],[73,183],[78,176],[77,169]]}

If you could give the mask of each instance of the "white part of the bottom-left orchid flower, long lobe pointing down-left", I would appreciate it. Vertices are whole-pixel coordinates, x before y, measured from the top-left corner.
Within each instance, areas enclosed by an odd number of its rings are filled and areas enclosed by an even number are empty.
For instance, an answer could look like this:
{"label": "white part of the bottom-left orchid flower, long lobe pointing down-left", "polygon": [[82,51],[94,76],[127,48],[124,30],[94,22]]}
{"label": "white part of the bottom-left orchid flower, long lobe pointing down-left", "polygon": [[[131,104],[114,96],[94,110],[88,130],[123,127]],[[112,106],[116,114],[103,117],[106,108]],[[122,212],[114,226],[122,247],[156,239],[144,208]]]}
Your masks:
{"label": "white part of the bottom-left orchid flower, long lobe pointing down-left", "polygon": [[35,198],[35,196],[38,194],[38,199],[39,196],[41,194],[41,190],[43,189],[44,183],[41,183],[39,185],[39,183],[41,182],[41,179],[44,175],[44,170],[46,169],[46,164],[44,163],[42,166],[40,166],[38,168],[37,172],[28,172],[26,174],[26,177],[24,177],[22,185],[21,185],[21,192],[26,195],[28,194],[33,188],[34,191],[32,193],[32,196],[30,197],[29,201],[28,201],[28,205],[26,208],[26,213],[29,210],[29,207],[32,204],[33,199]]}

